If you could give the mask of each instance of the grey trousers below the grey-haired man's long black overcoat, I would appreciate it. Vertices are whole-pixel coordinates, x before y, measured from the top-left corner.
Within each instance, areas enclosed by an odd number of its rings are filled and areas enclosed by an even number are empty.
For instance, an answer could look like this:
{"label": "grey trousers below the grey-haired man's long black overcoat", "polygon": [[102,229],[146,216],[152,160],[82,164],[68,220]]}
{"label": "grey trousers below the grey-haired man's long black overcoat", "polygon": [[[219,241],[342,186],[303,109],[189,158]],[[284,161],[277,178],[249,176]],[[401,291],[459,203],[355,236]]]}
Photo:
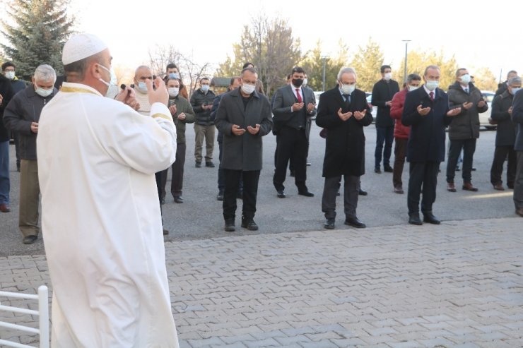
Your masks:
{"label": "grey trousers below the grey-haired man's long black overcoat", "polygon": [[[336,217],[336,194],[341,185],[341,175],[325,178],[322,196],[322,212],[325,218],[334,219]],[[343,205],[345,217],[356,217],[358,208],[358,193],[360,189],[360,176],[343,175]]]}

